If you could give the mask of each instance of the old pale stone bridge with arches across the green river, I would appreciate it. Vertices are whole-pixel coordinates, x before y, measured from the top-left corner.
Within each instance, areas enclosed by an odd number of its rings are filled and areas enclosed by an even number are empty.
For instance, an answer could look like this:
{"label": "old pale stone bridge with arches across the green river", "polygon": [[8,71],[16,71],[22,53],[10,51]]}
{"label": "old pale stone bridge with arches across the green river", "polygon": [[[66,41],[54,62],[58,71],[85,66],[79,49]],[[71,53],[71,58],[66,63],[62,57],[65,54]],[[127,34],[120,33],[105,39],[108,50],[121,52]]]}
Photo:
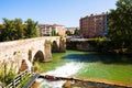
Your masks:
{"label": "old pale stone bridge with arches across the green river", "polygon": [[0,66],[4,62],[16,72],[31,69],[34,61],[52,61],[52,52],[65,52],[65,38],[44,36],[0,43]]}

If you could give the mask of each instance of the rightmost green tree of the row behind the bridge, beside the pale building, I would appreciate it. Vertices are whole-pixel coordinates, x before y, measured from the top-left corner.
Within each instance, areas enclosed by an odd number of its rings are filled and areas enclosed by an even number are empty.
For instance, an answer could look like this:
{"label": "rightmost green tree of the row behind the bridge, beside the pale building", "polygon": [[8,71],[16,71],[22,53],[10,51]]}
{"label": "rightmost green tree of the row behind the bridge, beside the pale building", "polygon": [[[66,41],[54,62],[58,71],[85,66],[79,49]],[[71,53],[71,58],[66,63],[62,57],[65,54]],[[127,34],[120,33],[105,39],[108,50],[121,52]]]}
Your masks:
{"label": "rightmost green tree of the row behind the bridge, beside the pale building", "polygon": [[37,29],[36,29],[36,25],[37,25],[37,22],[34,22],[33,20],[31,19],[28,19],[25,21],[25,37],[36,37],[38,34],[37,34]]}

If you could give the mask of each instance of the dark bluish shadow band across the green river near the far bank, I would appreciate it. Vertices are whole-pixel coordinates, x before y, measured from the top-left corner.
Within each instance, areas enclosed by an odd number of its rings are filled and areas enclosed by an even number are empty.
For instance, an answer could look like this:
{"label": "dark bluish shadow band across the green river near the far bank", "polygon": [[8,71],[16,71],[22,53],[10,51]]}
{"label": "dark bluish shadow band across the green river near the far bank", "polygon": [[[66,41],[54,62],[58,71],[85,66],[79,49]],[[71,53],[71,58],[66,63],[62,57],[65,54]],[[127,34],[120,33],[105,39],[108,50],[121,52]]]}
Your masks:
{"label": "dark bluish shadow band across the green river near the far bank", "polygon": [[63,59],[69,59],[81,63],[96,63],[101,62],[103,64],[132,64],[132,57],[123,55],[102,55],[97,53],[90,54],[68,54]]}

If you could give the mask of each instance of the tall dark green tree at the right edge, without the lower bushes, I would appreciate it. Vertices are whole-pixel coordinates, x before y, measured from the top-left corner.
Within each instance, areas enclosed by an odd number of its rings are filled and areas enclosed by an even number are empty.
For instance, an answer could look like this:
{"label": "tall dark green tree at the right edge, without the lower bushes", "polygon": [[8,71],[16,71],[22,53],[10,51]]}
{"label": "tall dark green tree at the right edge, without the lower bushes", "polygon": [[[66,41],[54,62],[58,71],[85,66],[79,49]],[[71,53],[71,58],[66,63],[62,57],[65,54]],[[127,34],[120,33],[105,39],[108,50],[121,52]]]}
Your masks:
{"label": "tall dark green tree at the right edge, without the lower bushes", "polygon": [[114,48],[132,46],[132,0],[119,0],[110,11],[109,35]]}

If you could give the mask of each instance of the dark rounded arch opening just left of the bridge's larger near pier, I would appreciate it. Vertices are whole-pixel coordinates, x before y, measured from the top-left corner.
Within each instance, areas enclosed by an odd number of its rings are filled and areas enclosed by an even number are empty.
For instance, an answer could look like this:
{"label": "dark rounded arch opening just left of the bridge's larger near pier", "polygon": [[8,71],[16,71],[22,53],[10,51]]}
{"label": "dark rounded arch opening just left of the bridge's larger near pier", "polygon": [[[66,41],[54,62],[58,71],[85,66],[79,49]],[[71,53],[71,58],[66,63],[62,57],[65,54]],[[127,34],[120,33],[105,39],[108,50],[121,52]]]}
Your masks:
{"label": "dark rounded arch opening just left of the bridge's larger near pier", "polygon": [[[42,51],[37,51],[35,55],[33,56],[34,62],[44,62],[44,54]],[[33,63],[34,63],[33,62]]]}

